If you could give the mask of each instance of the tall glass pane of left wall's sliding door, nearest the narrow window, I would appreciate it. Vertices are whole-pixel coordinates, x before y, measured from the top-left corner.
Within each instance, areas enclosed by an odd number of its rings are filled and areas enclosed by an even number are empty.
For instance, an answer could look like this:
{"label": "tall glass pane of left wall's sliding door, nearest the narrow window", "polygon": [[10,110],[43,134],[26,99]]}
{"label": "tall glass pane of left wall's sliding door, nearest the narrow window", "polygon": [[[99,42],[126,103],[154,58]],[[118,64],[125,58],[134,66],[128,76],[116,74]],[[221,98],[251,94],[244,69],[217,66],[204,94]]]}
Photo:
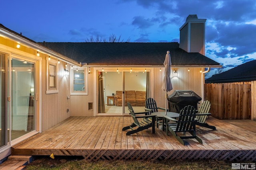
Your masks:
{"label": "tall glass pane of left wall's sliding door, nearest the narrow window", "polygon": [[35,63],[11,61],[11,140],[35,130]]}

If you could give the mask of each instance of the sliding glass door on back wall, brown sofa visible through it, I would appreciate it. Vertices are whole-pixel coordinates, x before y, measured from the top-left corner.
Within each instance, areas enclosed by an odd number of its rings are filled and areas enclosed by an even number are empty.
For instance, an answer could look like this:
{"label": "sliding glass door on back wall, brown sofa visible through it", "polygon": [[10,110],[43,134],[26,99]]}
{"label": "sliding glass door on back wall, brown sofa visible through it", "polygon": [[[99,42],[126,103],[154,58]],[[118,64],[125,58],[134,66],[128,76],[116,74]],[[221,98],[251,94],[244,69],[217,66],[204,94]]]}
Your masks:
{"label": "sliding glass door on back wall, brown sofa visible through it", "polygon": [[130,68],[97,70],[97,113],[127,115],[130,113],[127,102],[130,102],[135,111],[144,111],[149,92],[149,76],[150,70],[139,68],[132,71]]}

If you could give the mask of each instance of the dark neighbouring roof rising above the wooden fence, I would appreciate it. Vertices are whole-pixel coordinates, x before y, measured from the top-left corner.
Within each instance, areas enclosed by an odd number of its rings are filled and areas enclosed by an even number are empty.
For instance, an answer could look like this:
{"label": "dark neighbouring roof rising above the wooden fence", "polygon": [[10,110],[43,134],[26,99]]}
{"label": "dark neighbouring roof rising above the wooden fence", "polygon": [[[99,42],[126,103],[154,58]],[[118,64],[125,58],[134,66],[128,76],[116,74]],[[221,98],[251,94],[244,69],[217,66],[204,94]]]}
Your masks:
{"label": "dark neighbouring roof rising above the wooden fence", "polygon": [[205,83],[228,83],[228,82],[248,82],[256,80],[256,60],[249,61],[222,72],[214,74],[205,80]]}

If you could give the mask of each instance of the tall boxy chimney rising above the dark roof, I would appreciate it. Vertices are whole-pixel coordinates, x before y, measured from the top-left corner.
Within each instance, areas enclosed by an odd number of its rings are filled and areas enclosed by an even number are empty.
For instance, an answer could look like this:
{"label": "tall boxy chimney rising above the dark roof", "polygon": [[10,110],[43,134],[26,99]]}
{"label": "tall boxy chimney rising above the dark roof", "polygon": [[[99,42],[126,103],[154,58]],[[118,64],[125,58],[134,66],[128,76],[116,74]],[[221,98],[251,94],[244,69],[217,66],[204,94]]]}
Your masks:
{"label": "tall boxy chimney rising above the dark roof", "polygon": [[189,15],[186,22],[180,27],[180,48],[188,53],[200,53],[205,51],[205,22],[206,19],[198,19],[197,15]]}

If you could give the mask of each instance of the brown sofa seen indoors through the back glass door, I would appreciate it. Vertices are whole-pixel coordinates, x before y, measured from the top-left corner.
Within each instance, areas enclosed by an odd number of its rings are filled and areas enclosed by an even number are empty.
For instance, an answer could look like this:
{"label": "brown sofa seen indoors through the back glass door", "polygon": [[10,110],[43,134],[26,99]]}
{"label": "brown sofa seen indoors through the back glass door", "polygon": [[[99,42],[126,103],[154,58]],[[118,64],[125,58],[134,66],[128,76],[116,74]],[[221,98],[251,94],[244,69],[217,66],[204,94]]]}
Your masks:
{"label": "brown sofa seen indoors through the back glass door", "polygon": [[[116,91],[114,96],[115,106],[122,106],[122,91]],[[124,106],[127,106],[127,102],[131,106],[145,106],[146,91],[126,90],[124,91]]]}

